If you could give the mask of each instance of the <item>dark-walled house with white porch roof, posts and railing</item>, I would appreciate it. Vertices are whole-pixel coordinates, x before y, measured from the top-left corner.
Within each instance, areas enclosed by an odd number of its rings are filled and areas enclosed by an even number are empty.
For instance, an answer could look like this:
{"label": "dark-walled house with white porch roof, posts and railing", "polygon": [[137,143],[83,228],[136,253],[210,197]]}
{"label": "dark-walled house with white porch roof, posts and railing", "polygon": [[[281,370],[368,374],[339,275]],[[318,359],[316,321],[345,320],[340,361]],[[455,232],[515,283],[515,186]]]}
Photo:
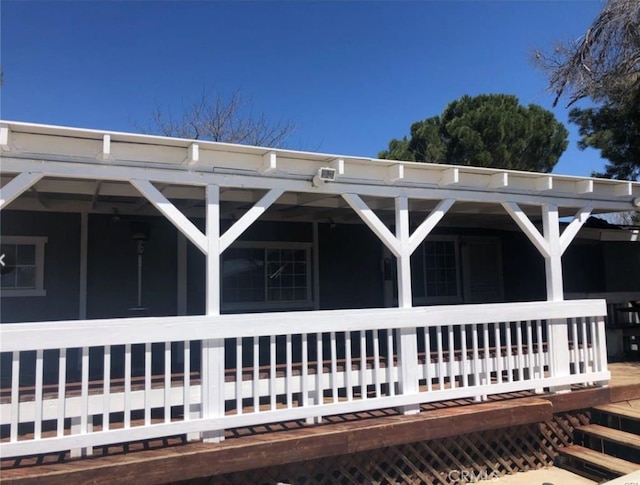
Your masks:
{"label": "dark-walled house with white porch roof, posts and railing", "polygon": [[3,456],[605,385],[606,300],[640,299],[640,231],[587,223],[637,182],[9,121],[0,148]]}

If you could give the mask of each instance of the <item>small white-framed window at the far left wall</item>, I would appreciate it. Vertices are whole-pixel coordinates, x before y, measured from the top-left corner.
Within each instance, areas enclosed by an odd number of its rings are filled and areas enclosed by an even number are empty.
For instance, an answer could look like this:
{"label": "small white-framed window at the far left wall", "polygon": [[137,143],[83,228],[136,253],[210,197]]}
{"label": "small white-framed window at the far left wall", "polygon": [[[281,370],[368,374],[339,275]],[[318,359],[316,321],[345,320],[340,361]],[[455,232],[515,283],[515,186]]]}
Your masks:
{"label": "small white-framed window at the far left wall", "polygon": [[45,296],[44,245],[46,237],[3,236],[0,254],[2,296]]}

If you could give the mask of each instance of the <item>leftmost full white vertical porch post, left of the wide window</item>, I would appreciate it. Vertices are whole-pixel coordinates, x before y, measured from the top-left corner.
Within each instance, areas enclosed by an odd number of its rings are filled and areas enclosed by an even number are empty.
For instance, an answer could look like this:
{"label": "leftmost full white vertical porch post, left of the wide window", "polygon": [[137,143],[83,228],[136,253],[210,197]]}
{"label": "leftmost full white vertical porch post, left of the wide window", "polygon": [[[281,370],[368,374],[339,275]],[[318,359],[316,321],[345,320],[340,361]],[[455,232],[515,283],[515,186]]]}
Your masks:
{"label": "leftmost full white vertical porch post, left of the wide window", "polygon": [[[220,188],[207,186],[207,284],[206,313],[220,315]],[[212,325],[215,325],[213,322]],[[202,417],[224,416],[224,340],[202,342]],[[203,441],[219,443],[224,430],[202,434]]]}

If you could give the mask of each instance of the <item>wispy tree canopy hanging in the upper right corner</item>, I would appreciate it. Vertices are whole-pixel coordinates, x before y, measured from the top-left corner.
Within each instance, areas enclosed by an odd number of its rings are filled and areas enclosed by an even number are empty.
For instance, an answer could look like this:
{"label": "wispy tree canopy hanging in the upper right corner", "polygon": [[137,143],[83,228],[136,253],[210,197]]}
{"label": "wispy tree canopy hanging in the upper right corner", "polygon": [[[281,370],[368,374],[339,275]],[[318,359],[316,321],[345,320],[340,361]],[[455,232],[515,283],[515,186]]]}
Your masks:
{"label": "wispy tree canopy hanging in the upper right corner", "polygon": [[554,105],[590,98],[595,107],[574,108],[578,146],[600,150],[609,160],[595,176],[640,177],[640,2],[608,0],[585,35],[558,45],[551,54],[536,52],[549,75]]}

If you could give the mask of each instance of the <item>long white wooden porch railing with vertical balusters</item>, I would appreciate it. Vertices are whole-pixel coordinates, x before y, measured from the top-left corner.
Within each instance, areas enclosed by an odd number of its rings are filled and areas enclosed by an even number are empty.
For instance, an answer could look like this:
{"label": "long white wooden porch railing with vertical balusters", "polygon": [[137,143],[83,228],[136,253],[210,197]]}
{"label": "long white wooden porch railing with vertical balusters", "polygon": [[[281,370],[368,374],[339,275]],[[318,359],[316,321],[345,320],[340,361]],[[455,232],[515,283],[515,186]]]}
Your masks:
{"label": "long white wooden porch railing with vertical balusters", "polygon": [[[6,324],[0,455],[604,385],[605,312],[580,300]],[[566,338],[547,339],[558,325]]]}

